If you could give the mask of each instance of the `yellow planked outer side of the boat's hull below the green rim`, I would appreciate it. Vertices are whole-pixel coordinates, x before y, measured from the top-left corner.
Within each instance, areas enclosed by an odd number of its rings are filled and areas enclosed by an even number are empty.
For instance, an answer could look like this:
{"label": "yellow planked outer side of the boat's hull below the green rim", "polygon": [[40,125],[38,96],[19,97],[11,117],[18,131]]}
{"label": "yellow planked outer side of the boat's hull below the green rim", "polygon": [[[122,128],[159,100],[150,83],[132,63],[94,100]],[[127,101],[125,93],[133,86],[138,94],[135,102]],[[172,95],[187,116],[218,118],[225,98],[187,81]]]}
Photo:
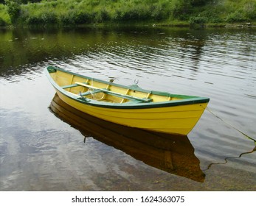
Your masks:
{"label": "yellow planked outer side of the boat's hull below the green rim", "polygon": [[58,90],[57,93],[63,102],[91,116],[128,127],[179,135],[187,135],[207,107],[207,103],[199,103],[149,109],[111,109],[82,104]]}

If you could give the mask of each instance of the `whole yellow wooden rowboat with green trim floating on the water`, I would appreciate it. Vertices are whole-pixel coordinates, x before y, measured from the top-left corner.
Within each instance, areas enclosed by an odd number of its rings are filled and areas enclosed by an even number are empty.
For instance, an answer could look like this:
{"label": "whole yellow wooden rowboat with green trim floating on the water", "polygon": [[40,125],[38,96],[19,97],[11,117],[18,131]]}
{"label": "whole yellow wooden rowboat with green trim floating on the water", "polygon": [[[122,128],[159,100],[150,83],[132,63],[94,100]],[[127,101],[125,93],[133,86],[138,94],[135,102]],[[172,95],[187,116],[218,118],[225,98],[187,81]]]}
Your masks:
{"label": "whole yellow wooden rowboat with green trim floating on the water", "polygon": [[156,132],[187,135],[209,98],[144,90],[75,74],[54,66],[46,76],[63,102],[83,113],[116,124]]}

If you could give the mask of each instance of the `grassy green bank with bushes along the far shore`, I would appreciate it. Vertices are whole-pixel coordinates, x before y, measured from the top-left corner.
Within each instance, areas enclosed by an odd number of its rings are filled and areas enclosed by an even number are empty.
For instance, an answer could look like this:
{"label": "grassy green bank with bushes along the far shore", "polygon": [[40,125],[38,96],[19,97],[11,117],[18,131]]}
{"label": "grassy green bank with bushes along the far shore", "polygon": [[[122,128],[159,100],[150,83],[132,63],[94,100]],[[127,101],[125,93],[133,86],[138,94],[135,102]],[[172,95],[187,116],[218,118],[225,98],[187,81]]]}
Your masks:
{"label": "grassy green bank with bushes along the far shore", "polygon": [[128,22],[191,26],[256,21],[255,0],[43,0],[38,3],[27,3],[24,0],[25,4],[20,2],[21,0],[5,0],[5,4],[0,4],[0,26],[66,26]]}

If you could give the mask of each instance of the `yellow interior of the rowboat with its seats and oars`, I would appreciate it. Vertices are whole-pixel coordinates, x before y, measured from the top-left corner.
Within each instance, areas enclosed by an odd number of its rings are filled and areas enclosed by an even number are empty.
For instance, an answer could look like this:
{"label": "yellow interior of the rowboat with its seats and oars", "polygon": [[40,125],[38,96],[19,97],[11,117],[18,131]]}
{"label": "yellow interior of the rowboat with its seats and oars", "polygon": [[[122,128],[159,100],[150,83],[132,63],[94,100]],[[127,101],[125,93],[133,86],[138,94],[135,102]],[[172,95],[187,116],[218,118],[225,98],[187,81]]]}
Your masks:
{"label": "yellow interior of the rowboat with its seats and oars", "polygon": [[125,87],[113,83],[113,80],[101,81],[90,77],[77,76],[57,70],[50,73],[52,79],[64,90],[82,99],[94,99],[111,103],[149,103],[182,99],[170,93],[154,93],[142,90],[137,85]]}

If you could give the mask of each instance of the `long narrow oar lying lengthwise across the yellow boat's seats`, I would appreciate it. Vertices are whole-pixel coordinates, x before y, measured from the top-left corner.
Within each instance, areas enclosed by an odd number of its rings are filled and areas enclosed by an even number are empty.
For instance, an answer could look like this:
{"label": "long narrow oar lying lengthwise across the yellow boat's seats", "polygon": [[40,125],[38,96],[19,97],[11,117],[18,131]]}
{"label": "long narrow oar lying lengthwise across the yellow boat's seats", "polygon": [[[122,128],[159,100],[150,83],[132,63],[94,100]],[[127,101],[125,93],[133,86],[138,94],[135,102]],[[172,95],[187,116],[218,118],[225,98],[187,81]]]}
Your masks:
{"label": "long narrow oar lying lengthwise across the yellow boat's seats", "polygon": [[103,89],[103,88],[96,88],[96,87],[91,86],[91,85],[86,85],[86,84],[84,84],[82,82],[75,82],[75,84],[83,86],[83,87],[86,87],[86,88],[92,88],[92,89],[101,91],[103,93],[108,93],[108,94],[111,94],[113,96],[118,96],[118,97],[124,98],[124,99],[137,100],[139,102],[152,102],[152,100],[153,100],[153,99],[148,99],[148,98],[139,98],[139,97],[136,97],[136,96],[131,96],[131,95],[127,95],[127,94],[117,93],[117,92],[114,92],[114,91],[111,91],[111,90],[106,90],[106,89]]}

